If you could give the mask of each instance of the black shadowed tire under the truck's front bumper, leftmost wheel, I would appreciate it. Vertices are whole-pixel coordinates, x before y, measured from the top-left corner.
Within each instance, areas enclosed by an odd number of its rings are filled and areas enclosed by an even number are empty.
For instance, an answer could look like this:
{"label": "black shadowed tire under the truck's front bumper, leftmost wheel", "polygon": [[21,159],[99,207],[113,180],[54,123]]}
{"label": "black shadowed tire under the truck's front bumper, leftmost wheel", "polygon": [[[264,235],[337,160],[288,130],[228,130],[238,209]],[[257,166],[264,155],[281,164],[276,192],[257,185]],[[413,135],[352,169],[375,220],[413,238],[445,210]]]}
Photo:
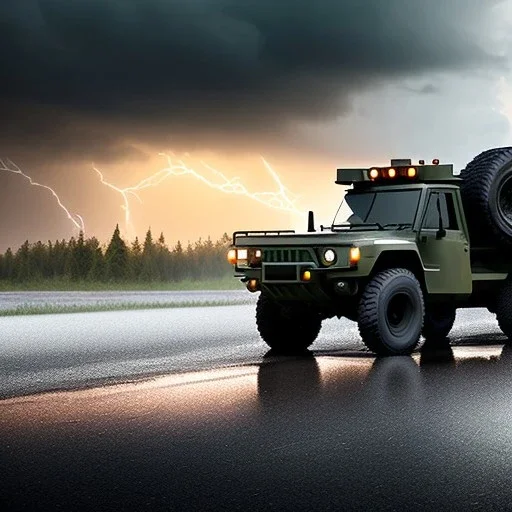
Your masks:
{"label": "black shadowed tire under the truck's front bumper, leftmost wheel", "polygon": [[261,293],[256,325],[265,343],[280,354],[303,353],[317,338],[322,316],[302,303],[279,303]]}

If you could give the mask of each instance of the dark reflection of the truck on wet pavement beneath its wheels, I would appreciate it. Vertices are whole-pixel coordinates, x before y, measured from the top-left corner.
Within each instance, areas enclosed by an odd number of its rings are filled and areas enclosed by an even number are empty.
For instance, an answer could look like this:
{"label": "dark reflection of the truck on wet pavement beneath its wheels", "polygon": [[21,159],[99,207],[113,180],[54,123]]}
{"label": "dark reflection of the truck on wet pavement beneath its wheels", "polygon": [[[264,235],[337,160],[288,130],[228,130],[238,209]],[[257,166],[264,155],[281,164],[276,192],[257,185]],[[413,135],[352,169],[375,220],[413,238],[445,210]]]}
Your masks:
{"label": "dark reflection of the truck on wet pavement beneath its wheels", "polygon": [[[279,358],[267,353],[258,370],[258,396],[265,407],[303,407],[307,402],[336,396],[340,407],[368,401],[403,410],[449,392],[461,392],[477,382],[487,386],[508,379],[512,347],[425,344],[412,356],[375,358],[344,352]],[[480,395],[478,390],[473,393]],[[318,405],[318,404],[317,404]]]}

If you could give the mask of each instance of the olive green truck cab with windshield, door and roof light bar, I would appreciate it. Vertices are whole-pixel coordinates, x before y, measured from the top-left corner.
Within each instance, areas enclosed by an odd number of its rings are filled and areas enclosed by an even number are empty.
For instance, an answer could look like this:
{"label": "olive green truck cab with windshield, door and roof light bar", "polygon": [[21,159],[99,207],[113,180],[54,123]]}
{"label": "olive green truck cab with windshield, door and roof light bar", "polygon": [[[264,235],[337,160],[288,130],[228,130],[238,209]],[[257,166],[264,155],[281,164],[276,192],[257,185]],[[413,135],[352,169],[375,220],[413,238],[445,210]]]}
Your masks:
{"label": "olive green truck cab with windshield, door and roof light bar", "polygon": [[406,234],[405,240],[376,236],[377,259],[390,258],[389,251],[403,245],[401,250],[417,252],[429,294],[467,296],[472,292],[469,234],[458,181],[452,165],[392,160],[389,167],[339,169],[336,183],[352,185],[345,200],[363,224]]}

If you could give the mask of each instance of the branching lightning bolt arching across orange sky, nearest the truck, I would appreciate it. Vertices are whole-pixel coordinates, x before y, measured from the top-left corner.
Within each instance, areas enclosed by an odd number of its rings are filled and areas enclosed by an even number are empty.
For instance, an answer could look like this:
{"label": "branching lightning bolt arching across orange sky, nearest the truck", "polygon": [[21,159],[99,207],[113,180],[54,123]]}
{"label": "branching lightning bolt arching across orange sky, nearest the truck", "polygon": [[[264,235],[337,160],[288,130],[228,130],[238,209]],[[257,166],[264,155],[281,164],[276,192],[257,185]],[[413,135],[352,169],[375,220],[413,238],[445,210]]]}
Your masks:
{"label": "branching lightning bolt arching across orange sky, nearest the truck", "polygon": [[300,197],[292,194],[284,186],[281,179],[279,178],[279,175],[276,173],[274,169],[272,169],[270,164],[262,156],[260,156],[260,158],[263,162],[265,169],[270,174],[273,181],[277,184],[277,192],[250,192],[247,189],[247,187],[242,183],[240,177],[235,176],[234,178],[228,178],[224,173],[212,167],[203,160],[200,161],[201,166],[208,170],[211,174],[213,174],[215,180],[206,177],[204,172],[189,167],[184,162],[184,160],[176,158],[172,154],[159,153],[158,156],[165,158],[167,166],[164,167],[163,169],[160,169],[155,174],[142,179],[136,185],[126,188],[120,188],[113,185],[112,183],[107,182],[102,172],[93,165],[93,169],[99,175],[101,183],[111,188],[112,190],[115,190],[122,196],[123,204],[121,205],[121,208],[125,212],[125,226],[127,230],[133,229],[133,226],[131,224],[129,195],[132,195],[139,202],[142,203],[142,199],[140,198],[138,192],[150,187],[157,187],[162,182],[164,182],[165,180],[172,176],[193,176],[197,180],[201,181],[204,185],[214,190],[218,190],[222,193],[245,196],[268,208],[293,213],[301,217],[305,216],[305,212],[298,209],[295,206],[295,203]]}

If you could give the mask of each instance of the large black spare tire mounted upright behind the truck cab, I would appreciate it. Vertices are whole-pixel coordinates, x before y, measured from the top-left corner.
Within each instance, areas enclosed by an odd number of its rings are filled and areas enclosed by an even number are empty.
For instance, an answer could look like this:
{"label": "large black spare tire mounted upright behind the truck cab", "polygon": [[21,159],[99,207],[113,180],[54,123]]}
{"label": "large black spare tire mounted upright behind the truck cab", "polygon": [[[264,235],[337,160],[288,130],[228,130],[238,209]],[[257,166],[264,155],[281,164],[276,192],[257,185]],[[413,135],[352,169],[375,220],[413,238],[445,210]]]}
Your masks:
{"label": "large black spare tire mounted upright behind the truck cab", "polygon": [[470,242],[512,246],[512,147],[480,153],[460,177]]}

